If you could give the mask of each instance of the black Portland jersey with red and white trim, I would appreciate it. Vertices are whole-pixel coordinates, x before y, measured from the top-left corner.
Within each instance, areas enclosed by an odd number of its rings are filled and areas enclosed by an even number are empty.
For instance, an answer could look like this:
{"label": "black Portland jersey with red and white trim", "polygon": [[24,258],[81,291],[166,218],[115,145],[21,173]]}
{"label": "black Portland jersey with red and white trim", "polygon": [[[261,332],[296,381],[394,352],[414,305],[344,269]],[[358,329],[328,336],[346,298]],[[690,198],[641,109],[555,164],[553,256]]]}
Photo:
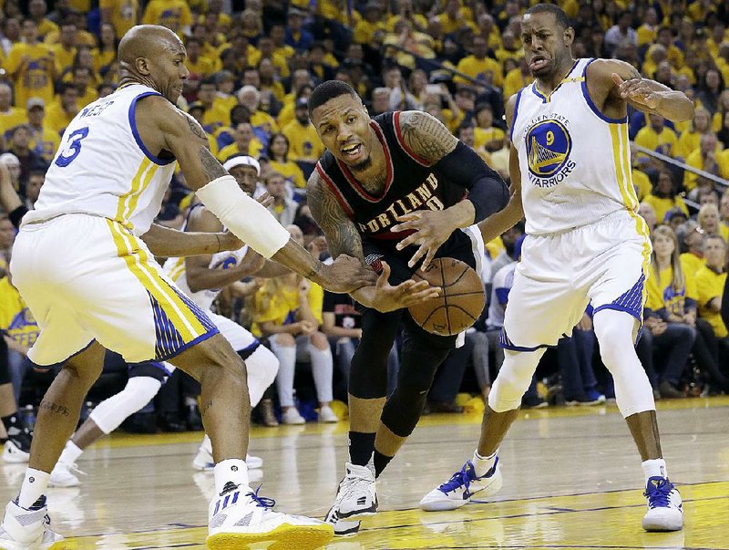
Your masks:
{"label": "black Portland jersey with red and white trim", "polygon": [[364,239],[401,240],[409,232],[393,233],[396,217],[416,210],[445,210],[462,200],[466,189],[437,171],[406,145],[399,124],[400,111],[377,115],[370,121],[385,150],[385,190],[373,196],[347,166],[326,151],[316,171],[334,192],[344,212],[357,224]]}

